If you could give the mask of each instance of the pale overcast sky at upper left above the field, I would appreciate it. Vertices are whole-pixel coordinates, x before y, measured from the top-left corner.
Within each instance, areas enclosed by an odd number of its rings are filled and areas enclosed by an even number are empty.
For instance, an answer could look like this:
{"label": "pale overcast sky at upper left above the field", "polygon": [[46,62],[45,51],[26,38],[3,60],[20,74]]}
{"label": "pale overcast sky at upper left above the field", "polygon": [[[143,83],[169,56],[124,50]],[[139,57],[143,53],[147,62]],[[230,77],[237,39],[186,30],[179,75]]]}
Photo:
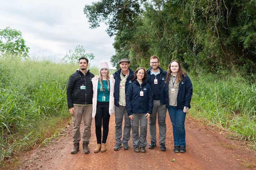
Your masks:
{"label": "pale overcast sky at upper left above the field", "polygon": [[90,29],[83,14],[84,5],[96,1],[2,1],[0,29],[9,26],[20,30],[32,56],[59,61],[67,51],[83,45],[88,53],[95,55],[91,65],[106,61],[113,68],[110,57],[115,54],[114,37],[107,35],[103,23],[97,29]]}

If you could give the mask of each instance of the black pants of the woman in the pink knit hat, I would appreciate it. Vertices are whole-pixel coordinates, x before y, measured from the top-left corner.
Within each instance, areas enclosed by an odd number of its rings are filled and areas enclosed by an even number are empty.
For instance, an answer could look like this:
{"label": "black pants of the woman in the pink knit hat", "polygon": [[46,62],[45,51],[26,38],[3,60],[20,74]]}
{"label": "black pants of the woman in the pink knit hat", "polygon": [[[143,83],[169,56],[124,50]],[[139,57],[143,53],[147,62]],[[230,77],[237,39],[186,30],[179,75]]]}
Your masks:
{"label": "black pants of the woman in the pink knit hat", "polygon": [[[95,115],[95,132],[97,144],[106,143],[109,125],[109,102],[97,101],[96,115]],[[103,126],[103,134],[101,140],[101,127]]]}

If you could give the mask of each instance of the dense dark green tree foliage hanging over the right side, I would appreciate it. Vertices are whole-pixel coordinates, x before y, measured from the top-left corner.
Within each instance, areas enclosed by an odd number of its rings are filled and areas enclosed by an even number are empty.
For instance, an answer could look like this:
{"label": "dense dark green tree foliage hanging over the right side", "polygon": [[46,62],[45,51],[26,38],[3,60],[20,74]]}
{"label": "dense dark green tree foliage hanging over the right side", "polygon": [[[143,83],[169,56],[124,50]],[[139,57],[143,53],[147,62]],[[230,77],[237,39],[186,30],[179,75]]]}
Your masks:
{"label": "dense dark green tree foliage hanging over the right side", "polygon": [[131,67],[148,67],[157,55],[164,68],[178,59],[187,69],[255,73],[255,7],[253,0],[101,0],[84,13],[91,28],[103,21],[116,35],[114,66],[128,57]]}

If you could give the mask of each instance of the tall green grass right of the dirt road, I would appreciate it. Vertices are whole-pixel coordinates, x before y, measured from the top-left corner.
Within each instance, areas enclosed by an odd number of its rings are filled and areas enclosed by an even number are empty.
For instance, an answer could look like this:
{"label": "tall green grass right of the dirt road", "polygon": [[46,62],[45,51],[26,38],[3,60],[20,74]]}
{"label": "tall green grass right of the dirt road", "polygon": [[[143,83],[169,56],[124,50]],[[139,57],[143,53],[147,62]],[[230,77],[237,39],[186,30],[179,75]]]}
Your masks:
{"label": "tall green grass right of the dirt road", "polygon": [[226,74],[200,73],[191,76],[192,109],[209,125],[230,131],[231,138],[256,140],[256,81],[253,76],[241,76],[237,71]]}

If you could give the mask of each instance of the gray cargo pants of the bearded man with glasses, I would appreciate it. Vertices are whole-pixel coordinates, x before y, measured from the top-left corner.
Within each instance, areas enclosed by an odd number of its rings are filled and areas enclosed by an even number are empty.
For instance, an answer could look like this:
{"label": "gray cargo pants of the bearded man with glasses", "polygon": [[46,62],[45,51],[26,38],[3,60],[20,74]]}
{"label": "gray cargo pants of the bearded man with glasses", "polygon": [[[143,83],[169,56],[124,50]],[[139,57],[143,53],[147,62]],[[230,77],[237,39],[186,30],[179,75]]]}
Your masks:
{"label": "gray cargo pants of the bearded man with glasses", "polygon": [[154,100],[152,114],[149,118],[149,134],[150,140],[156,142],[156,115],[158,119],[158,126],[159,126],[159,144],[165,144],[166,138],[166,105],[160,104],[160,100]]}

